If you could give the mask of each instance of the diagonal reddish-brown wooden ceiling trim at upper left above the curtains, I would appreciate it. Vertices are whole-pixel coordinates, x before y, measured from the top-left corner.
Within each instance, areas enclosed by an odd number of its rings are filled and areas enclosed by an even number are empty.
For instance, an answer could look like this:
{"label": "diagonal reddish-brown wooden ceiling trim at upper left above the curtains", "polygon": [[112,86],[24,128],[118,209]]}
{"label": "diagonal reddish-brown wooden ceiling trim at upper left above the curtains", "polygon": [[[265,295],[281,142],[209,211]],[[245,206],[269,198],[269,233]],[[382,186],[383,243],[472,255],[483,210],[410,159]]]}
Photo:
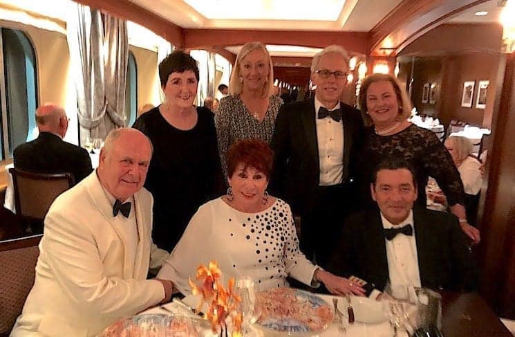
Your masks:
{"label": "diagonal reddish-brown wooden ceiling trim at upper left above the curtains", "polygon": [[128,0],[74,0],[91,8],[98,8],[109,15],[120,19],[133,21],[136,24],[149,28],[174,46],[184,46],[183,29],[163,19],[159,15],[142,8]]}

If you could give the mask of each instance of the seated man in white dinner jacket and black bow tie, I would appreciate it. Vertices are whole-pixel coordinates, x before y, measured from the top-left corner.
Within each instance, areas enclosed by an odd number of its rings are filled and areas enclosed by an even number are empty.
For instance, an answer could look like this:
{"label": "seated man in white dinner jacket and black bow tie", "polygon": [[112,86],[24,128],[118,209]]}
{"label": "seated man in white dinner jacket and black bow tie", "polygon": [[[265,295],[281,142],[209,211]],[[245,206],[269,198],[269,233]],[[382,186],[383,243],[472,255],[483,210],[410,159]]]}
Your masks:
{"label": "seated man in white dinner jacket and black bow tie", "polygon": [[168,256],[151,241],[153,199],[142,189],[151,154],[140,131],[111,131],[97,170],[55,200],[11,336],[96,336],[170,299],[171,282],[146,280]]}

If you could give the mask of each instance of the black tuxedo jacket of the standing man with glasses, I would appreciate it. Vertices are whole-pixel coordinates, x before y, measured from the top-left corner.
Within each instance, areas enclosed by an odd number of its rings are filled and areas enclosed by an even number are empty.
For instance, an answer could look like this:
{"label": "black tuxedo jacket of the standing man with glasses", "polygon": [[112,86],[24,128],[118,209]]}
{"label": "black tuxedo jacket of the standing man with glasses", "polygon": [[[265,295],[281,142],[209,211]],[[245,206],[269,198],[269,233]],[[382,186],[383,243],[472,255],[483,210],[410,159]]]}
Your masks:
{"label": "black tuxedo jacket of the standing man with glasses", "polygon": [[[355,155],[362,138],[363,121],[359,110],[340,103],[344,127],[344,182],[355,175]],[[317,142],[315,99],[285,104],[275,122],[272,149],[274,167],[269,189],[290,203],[299,213],[310,206],[319,185],[320,165]]]}

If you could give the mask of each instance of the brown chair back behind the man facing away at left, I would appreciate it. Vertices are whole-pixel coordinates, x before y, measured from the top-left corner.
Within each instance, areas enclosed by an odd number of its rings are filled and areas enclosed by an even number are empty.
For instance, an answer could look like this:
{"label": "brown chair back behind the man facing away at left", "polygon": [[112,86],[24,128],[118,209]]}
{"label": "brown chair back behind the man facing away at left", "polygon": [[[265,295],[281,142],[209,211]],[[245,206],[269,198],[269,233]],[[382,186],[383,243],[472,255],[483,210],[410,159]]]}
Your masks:
{"label": "brown chair back behind the man facing away at left", "polygon": [[42,230],[43,220],[55,198],[75,182],[70,173],[43,174],[9,169],[15,192],[16,215],[25,226]]}

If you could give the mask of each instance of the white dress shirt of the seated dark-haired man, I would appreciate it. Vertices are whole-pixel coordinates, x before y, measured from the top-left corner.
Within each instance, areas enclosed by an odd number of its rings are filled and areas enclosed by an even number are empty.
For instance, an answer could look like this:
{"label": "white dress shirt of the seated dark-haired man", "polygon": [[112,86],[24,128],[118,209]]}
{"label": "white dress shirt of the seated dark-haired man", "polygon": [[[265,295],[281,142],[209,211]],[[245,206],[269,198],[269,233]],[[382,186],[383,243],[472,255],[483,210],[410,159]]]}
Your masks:
{"label": "white dress shirt of the seated dark-haired man", "polygon": [[[383,228],[400,228],[406,224],[413,226],[413,211],[400,224],[394,226],[381,213]],[[420,288],[420,272],[418,270],[417,242],[413,235],[397,234],[391,241],[386,238],[386,257],[388,258],[388,275],[392,289],[395,285],[414,286]]]}

